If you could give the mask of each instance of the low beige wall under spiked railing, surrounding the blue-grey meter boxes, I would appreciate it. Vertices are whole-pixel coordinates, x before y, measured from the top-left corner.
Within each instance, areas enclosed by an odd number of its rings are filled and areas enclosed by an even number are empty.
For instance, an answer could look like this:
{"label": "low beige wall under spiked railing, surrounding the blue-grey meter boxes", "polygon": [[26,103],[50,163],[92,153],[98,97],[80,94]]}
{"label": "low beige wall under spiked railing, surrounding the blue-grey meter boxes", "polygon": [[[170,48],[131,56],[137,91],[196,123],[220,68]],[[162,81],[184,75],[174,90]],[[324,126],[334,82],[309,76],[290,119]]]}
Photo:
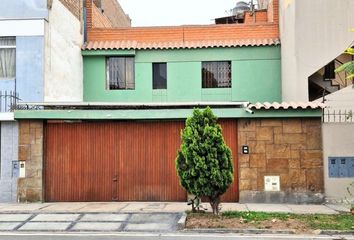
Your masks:
{"label": "low beige wall under spiked railing, surrounding the blue-grey meter boxes", "polygon": [[[328,157],[354,157],[354,123],[325,123],[323,124],[323,157],[324,183],[326,198],[330,202],[345,202],[345,198],[352,199],[347,187],[354,182],[354,178],[329,178]],[[354,188],[351,188],[354,194]]]}

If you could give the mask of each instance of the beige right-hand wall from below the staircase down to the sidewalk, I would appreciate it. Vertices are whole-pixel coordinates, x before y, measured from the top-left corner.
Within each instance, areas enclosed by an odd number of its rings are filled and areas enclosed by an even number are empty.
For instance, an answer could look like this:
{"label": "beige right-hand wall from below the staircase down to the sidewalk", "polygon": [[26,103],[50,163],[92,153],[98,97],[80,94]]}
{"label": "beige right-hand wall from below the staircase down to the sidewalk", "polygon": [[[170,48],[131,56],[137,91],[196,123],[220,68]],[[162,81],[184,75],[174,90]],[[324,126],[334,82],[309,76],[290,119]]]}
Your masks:
{"label": "beige right-hand wall from below the staircase down to the sidewalk", "polygon": [[[350,196],[347,187],[354,178],[329,178],[328,157],[354,157],[354,89],[346,87],[325,97],[324,109],[323,160],[326,198],[330,202],[346,202]],[[354,194],[354,188],[351,188]]]}

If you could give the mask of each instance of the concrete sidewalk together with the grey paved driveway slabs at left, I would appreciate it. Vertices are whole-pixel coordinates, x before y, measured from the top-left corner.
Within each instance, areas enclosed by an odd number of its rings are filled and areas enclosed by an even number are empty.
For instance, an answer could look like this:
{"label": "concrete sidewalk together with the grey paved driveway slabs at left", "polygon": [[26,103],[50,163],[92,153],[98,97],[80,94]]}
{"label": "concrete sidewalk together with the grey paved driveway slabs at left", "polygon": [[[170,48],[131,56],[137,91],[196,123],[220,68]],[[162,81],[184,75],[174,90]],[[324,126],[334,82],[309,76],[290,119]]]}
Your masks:
{"label": "concrete sidewalk together with the grey paved driveway slabs at left", "polygon": [[[221,208],[298,214],[348,211],[335,205],[223,203]],[[186,210],[186,203],[162,202],[0,204],[0,232],[174,232]]]}

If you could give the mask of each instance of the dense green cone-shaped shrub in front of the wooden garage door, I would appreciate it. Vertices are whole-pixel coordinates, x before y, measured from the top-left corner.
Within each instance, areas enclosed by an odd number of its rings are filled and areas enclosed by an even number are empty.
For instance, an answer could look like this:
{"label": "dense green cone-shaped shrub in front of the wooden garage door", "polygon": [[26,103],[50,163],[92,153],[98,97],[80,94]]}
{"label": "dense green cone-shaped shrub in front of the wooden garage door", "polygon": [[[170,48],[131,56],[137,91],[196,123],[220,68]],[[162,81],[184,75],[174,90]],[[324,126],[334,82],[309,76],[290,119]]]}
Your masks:
{"label": "dense green cone-shaped shrub in front of the wooden garage door", "polygon": [[213,213],[218,214],[220,196],[233,182],[234,170],[217,117],[209,107],[194,109],[181,135],[176,158],[180,184],[190,194],[207,197]]}

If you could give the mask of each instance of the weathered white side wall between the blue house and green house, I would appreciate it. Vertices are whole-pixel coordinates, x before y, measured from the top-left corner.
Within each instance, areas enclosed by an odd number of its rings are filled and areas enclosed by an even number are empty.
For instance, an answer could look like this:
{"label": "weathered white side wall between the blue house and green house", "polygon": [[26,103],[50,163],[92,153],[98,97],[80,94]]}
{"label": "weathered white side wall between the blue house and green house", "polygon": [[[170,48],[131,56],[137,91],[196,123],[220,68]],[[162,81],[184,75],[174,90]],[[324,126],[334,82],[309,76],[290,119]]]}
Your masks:
{"label": "weathered white side wall between the blue house and green house", "polygon": [[83,100],[80,21],[59,1],[53,1],[45,26],[45,102]]}

